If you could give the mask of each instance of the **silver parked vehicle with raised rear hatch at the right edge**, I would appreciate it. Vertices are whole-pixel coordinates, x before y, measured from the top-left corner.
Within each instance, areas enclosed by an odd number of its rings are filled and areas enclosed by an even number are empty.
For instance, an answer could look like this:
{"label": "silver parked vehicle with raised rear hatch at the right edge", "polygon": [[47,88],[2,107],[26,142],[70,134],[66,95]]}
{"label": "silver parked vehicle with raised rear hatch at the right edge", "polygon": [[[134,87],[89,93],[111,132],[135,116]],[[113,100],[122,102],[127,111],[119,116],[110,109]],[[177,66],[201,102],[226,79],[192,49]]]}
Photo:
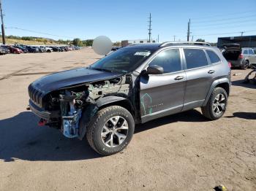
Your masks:
{"label": "silver parked vehicle with raised rear hatch at the right edge", "polygon": [[223,44],[222,55],[233,67],[247,69],[256,63],[256,54],[252,48],[241,48],[240,44]]}

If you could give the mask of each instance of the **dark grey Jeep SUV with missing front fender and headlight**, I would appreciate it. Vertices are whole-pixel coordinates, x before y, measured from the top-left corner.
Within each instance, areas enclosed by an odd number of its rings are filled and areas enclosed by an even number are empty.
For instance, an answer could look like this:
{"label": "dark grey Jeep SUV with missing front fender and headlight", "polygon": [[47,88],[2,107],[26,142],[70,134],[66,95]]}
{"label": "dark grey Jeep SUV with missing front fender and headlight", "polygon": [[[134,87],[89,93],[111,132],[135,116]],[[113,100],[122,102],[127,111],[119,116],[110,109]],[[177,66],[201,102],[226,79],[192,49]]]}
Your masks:
{"label": "dark grey Jeep SUV with missing front fender and headlight", "polygon": [[86,139],[101,155],[124,149],[135,124],[201,107],[225,112],[230,68],[206,43],[135,44],[89,67],[60,71],[29,85],[29,109],[40,125]]}

